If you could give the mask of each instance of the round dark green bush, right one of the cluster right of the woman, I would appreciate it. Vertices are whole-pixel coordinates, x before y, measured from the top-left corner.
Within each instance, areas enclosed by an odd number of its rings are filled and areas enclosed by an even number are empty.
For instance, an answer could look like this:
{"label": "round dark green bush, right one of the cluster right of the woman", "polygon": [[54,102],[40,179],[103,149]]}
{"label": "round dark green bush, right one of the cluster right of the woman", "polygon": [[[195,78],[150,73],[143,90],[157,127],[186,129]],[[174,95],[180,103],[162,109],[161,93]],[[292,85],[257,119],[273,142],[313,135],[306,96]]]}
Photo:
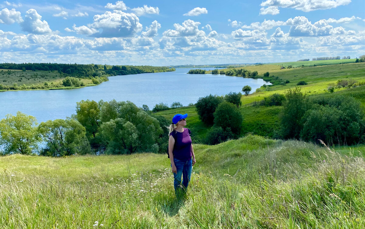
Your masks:
{"label": "round dark green bush, right one of the cluster right of the woman", "polygon": [[241,132],[242,121],[243,117],[237,106],[226,101],[220,103],[214,112],[214,126],[222,127],[224,131],[230,128],[237,136]]}

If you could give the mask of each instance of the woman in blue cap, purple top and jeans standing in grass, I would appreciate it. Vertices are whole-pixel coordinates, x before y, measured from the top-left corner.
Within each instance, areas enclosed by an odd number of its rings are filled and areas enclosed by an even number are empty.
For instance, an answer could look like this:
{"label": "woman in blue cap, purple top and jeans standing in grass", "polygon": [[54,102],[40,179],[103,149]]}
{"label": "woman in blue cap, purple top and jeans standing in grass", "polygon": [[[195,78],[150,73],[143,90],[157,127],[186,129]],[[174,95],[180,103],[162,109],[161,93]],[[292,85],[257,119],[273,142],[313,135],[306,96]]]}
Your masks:
{"label": "woman in blue cap, purple top and jeans standing in grass", "polygon": [[[176,194],[181,189],[186,191],[191,177],[192,166],[196,162],[193,145],[191,144],[190,130],[184,128],[186,125],[186,117],[188,117],[188,114],[174,115],[169,127],[169,156],[171,169],[174,173]],[[183,186],[181,186],[181,175],[183,175]]]}

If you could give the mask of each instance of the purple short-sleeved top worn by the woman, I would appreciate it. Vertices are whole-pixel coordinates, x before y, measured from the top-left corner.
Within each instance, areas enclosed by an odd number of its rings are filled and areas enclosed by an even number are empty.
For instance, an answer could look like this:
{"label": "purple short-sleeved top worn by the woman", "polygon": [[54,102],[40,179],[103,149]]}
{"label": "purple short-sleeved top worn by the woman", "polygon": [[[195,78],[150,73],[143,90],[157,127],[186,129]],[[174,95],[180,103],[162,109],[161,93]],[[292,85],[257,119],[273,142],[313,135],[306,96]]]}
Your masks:
{"label": "purple short-sleeved top worn by the woman", "polygon": [[184,128],[183,132],[173,131],[170,136],[175,139],[174,149],[172,151],[174,158],[179,160],[191,159],[191,138],[189,129]]}

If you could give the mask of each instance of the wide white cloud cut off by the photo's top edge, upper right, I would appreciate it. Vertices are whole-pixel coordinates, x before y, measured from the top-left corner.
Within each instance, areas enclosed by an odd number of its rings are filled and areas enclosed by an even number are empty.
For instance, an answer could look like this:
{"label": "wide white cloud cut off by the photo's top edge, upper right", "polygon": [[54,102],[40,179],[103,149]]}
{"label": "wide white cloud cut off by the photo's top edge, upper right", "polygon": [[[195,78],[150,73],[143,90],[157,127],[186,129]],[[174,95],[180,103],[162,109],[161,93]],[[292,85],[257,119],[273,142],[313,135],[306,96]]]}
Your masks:
{"label": "wide white cloud cut off by the photo's top edge, upper right", "polygon": [[347,5],[350,2],[351,0],[266,0],[262,2],[260,5],[262,7],[268,7],[268,8],[270,7],[294,8],[304,12],[310,12],[317,9],[335,8],[340,5]]}

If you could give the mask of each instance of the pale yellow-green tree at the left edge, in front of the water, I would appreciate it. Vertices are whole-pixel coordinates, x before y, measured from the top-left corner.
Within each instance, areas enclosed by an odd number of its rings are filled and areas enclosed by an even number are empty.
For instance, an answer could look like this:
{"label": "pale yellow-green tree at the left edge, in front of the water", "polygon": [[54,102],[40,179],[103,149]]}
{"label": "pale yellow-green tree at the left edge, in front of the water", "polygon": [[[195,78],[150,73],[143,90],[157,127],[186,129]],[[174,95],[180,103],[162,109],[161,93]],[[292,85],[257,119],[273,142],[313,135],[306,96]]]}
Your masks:
{"label": "pale yellow-green tree at the left edge, in front of the water", "polygon": [[20,111],[0,121],[0,145],[6,153],[32,154],[40,141],[37,119]]}

